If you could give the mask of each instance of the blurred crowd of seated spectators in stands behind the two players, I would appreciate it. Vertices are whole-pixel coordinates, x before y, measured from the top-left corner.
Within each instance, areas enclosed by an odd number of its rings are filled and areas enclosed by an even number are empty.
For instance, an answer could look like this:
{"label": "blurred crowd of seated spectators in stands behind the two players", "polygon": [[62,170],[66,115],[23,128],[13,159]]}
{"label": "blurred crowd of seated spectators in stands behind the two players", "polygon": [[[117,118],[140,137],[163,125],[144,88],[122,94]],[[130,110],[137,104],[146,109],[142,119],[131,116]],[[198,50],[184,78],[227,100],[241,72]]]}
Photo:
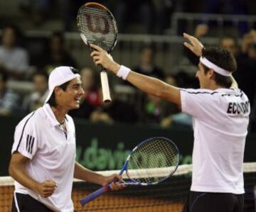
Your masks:
{"label": "blurred crowd of seated spectators in stands behind the two players", "polygon": [[[195,30],[195,36],[201,39],[208,34],[208,25],[200,24]],[[21,43],[22,35],[15,26],[2,28],[0,45],[0,114],[1,116],[27,114],[42,106],[48,94],[48,74],[60,65],[68,65],[80,69],[82,87],[85,95],[82,98],[80,109],[70,111],[75,118],[83,118],[100,123],[147,123],[159,125],[163,128],[171,125],[191,126],[191,117],[181,113],[176,106],[161,101],[154,96],[146,96],[134,89],[134,101],[123,101],[120,93],[112,89],[112,103],[102,102],[99,74],[95,67],[78,67],[70,51],[65,49],[63,33],[53,32],[46,42],[45,50],[38,55],[30,55]],[[220,38],[220,46],[230,50],[238,62],[238,71],[235,78],[240,88],[245,91],[252,106],[250,130],[256,131],[256,31],[250,30],[238,38],[225,36]],[[155,62],[156,49],[154,45],[144,44],[139,48],[137,65],[134,71],[157,77],[166,83],[178,87],[196,87],[196,79],[188,72],[171,74],[164,72]],[[198,58],[185,51],[184,54],[192,64],[198,63]],[[89,57],[89,56],[88,56]],[[30,65],[35,65],[33,74],[28,71]],[[129,66],[129,65],[128,65]],[[170,67],[171,69],[171,67]],[[8,82],[33,82],[31,93],[21,94],[17,90],[9,89]],[[120,82],[121,83],[121,82]],[[132,87],[122,82],[123,86]],[[132,103],[132,104],[131,104]]]}

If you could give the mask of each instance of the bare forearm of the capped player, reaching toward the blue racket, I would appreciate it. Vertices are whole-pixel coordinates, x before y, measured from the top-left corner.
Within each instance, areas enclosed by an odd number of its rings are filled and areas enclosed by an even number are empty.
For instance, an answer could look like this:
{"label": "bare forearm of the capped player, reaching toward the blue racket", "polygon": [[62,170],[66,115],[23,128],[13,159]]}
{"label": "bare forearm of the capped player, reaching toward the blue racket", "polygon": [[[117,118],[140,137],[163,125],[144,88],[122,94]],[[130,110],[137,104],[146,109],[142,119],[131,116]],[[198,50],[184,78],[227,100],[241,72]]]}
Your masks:
{"label": "bare forearm of the capped player, reaching toward the blue racket", "polygon": [[101,174],[97,174],[96,172],[82,167],[78,162],[75,162],[74,177],[93,184],[104,184],[104,177]]}

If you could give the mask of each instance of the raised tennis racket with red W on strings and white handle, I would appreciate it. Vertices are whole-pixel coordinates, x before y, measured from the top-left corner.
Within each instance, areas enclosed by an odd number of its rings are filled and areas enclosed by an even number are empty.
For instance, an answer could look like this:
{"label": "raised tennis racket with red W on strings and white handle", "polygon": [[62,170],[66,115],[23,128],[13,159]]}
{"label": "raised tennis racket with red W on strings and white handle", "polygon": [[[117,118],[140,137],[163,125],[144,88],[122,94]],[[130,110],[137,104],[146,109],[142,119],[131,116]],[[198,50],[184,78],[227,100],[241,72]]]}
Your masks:
{"label": "raised tennis racket with red W on strings and white handle", "polygon": [[[88,46],[95,44],[110,53],[117,43],[117,23],[114,16],[102,4],[88,2],[78,9],[78,29],[84,43]],[[107,79],[107,72],[104,69],[100,72],[102,84],[102,96],[104,102],[110,102],[110,87]]]}

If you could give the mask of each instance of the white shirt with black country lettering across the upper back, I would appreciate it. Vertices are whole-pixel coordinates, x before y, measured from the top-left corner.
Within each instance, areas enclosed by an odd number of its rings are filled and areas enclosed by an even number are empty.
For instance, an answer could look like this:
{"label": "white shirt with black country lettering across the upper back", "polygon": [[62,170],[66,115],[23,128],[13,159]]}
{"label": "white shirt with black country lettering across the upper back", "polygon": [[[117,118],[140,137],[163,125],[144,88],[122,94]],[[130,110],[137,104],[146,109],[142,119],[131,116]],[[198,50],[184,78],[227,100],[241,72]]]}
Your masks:
{"label": "white shirt with black country lettering across the upper back", "polygon": [[193,116],[191,191],[243,194],[242,173],[250,103],[240,89],[181,89]]}

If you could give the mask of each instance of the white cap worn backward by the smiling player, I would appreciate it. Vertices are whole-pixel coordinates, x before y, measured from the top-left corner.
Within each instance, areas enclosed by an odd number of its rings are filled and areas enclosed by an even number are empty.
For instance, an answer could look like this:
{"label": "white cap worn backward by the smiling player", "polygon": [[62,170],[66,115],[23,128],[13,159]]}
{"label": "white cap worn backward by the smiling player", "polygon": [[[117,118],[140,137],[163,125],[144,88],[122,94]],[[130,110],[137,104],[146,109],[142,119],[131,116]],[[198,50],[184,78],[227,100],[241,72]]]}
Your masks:
{"label": "white cap worn backward by the smiling player", "polygon": [[73,67],[68,66],[60,66],[53,69],[52,72],[50,72],[50,76],[48,79],[48,89],[49,93],[46,97],[45,104],[50,99],[50,96],[53,94],[53,91],[55,87],[60,86],[61,84],[64,84],[65,82],[68,82],[72,79],[75,79],[76,77],[80,77],[80,74],[74,74],[72,72]]}

